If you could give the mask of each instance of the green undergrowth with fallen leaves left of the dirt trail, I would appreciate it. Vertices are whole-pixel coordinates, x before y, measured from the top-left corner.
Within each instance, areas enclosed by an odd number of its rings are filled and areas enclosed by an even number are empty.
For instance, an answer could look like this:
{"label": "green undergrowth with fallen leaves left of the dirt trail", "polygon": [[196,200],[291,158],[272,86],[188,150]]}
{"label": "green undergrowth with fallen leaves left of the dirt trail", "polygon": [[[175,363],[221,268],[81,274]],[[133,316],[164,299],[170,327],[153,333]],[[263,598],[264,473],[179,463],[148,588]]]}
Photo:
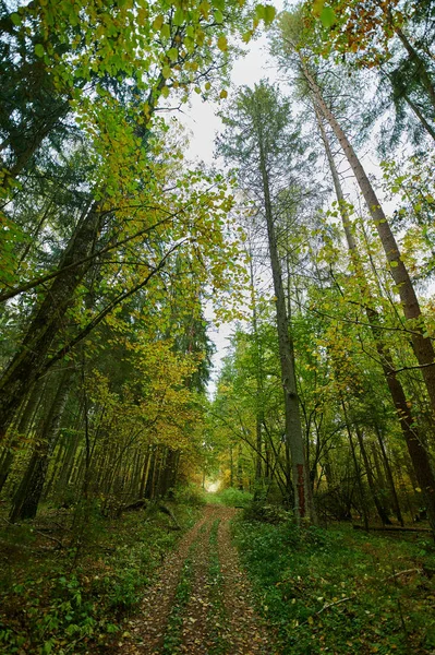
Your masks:
{"label": "green undergrowth with fallen leaves left of the dirt trail", "polygon": [[2,525],[0,653],[108,653],[165,555],[198,515],[185,503],[172,510],[182,531],[154,507],[113,520],[95,511],[83,531],[53,511]]}

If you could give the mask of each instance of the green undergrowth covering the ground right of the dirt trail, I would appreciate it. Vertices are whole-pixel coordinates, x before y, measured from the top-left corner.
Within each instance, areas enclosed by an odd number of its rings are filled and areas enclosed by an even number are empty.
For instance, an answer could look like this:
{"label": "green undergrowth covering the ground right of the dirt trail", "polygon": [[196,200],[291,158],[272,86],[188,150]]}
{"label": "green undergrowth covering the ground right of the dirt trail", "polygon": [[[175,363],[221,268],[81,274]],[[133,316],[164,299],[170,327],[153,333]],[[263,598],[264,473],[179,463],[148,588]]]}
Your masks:
{"label": "green undergrowth covering the ground right of the dirt trail", "polygon": [[428,537],[299,531],[237,519],[233,536],[282,655],[430,654],[435,555]]}

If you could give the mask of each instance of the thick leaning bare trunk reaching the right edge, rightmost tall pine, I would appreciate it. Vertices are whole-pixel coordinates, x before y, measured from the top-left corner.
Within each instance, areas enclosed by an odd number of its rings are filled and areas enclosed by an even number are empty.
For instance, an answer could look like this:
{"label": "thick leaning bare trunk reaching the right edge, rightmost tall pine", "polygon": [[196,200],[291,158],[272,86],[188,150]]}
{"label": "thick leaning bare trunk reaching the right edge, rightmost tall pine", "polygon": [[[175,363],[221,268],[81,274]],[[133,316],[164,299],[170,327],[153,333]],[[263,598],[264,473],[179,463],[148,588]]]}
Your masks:
{"label": "thick leaning bare trunk reaching the right edge, rightmost tall pine", "polygon": [[337,140],[339,141],[375,223],[385,254],[387,257],[387,261],[390,265],[391,276],[396,283],[400,296],[404,317],[408,321],[412,321],[410,331],[412,347],[419,365],[421,366],[421,371],[426,384],[433,412],[435,412],[435,350],[432,345],[432,341],[423,335],[423,317],[408,270],[400,258],[400,251],[395,236],[379,204],[376,193],[365,174],[365,170],[361,165],[361,162],[359,160],[352,145],[350,144],[337,119],[325,103],[321,88],[310,73],[302,55],[300,55],[300,61],[303,74],[311,88],[314,103],[328,121]]}

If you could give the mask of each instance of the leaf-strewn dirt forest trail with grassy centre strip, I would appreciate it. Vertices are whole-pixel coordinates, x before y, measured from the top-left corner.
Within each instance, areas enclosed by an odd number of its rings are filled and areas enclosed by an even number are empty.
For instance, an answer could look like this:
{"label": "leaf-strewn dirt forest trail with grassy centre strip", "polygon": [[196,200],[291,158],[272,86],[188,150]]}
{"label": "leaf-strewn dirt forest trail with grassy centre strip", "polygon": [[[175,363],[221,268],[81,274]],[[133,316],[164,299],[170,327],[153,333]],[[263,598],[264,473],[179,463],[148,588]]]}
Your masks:
{"label": "leaf-strewn dirt forest trail with grassy centre strip", "polygon": [[120,655],[274,655],[273,636],[231,544],[237,510],[207,505],[165,560]]}

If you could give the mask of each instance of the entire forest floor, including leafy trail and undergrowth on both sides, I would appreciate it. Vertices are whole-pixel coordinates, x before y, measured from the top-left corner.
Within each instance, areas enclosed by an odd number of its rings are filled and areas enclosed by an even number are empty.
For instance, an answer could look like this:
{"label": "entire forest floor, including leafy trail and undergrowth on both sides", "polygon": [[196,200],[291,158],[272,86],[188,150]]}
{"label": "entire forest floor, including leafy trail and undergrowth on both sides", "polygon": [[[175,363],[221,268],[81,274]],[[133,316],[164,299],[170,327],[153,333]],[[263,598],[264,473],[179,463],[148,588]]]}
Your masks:
{"label": "entire forest floor, including leafy trail and undergrowth on both sides", "polygon": [[427,533],[298,528],[226,492],[177,522],[96,510],[78,538],[73,511],[0,512],[0,655],[435,655]]}

